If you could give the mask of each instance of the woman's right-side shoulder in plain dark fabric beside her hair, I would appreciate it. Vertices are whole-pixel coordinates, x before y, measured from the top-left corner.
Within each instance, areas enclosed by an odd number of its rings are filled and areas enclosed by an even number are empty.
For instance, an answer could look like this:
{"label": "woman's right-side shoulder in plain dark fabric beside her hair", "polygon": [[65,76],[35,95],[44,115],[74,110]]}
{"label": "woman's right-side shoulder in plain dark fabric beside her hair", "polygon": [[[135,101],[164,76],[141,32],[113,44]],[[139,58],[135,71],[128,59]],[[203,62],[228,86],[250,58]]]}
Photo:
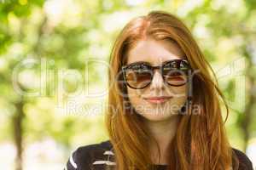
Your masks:
{"label": "woman's right-side shoulder in plain dark fabric beside her hair", "polygon": [[253,163],[246,154],[244,154],[241,150],[237,150],[236,148],[232,148],[232,150],[233,153],[236,154],[239,161],[239,170],[253,170]]}

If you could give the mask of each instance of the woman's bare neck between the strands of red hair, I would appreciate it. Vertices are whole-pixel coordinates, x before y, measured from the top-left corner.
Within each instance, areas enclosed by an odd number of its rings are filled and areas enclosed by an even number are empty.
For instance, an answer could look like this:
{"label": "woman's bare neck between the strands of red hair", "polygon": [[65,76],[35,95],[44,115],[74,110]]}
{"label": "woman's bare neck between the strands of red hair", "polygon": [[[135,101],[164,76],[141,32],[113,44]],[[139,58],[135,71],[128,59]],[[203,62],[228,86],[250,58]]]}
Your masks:
{"label": "woman's bare neck between the strands of red hair", "polygon": [[[149,141],[149,150],[152,156],[154,164],[167,164],[167,153],[168,146],[171,144],[177,132],[177,123],[179,116],[172,116],[170,119],[160,122],[147,121],[146,126],[148,127],[149,133],[156,140],[160,146],[160,156],[158,154],[157,145],[154,140]],[[160,161],[158,161],[160,160]]]}

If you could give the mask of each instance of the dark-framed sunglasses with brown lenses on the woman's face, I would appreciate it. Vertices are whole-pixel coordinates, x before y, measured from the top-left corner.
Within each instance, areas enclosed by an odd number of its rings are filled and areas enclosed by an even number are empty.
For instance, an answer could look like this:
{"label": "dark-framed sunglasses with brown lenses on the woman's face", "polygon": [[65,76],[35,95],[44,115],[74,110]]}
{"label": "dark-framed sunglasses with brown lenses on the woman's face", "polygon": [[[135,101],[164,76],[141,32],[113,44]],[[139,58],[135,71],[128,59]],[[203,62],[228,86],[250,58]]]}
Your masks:
{"label": "dark-framed sunglasses with brown lenses on the woman's face", "polygon": [[131,63],[122,66],[125,84],[134,89],[148,87],[153,80],[154,69],[160,69],[161,77],[166,84],[178,87],[188,82],[191,67],[186,59],[168,60],[159,66],[152,66],[143,61]]}

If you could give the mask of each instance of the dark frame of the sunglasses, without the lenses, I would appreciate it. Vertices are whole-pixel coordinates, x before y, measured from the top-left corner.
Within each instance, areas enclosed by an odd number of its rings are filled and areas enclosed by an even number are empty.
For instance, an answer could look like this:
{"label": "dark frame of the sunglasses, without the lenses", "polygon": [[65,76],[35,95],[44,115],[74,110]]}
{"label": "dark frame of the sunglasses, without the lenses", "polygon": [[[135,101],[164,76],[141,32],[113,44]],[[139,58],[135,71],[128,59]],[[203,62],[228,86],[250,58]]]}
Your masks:
{"label": "dark frame of the sunglasses, without the lenses", "polygon": [[[166,64],[169,64],[169,63],[172,63],[172,62],[175,62],[176,64],[177,64],[177,62],[178,62],[177,68],[172,68],[173,70],[185,71],[186,75],[187,75],[187,71],[191,70],[191,66],[189,65],[189,61],[188,61],[187,59],[172,59],[172,60],[167,60],[167,61],[163,62],[161,65],[157,65],[157,66],[152,66],[152,65],[150,65],[148,62],[139,61],[139,62],[136,62],[136,63],[131,63],[131,64],[129,64],[129,65],[123,65],[123,66],[122,66],[122,73],[123,73],[123,78],[124,78],[124,80],[125,80],[125,84],[126,84],[128,87],[133,88],[133,89],[143,89],[143,88],[147,88],[148,85],[149,85],[149,84],[152,82],[152,80],[153,80],[153,77],[154,77],[154,69],[160,69],[160,75],[161,75],[161,77],[163,78],[163,80],[164,80],[165,83],[167,83],[167,84],[170,85],[170,86],[174,86],[174,87],[183,86],[184,84],[186,84],[186,83],[188,82],[188,79],[186,80],[186,82],[184,82],[184,83],[181,84],[181,85],[173,85],[173,84],[170,84],[170,83],[166,82],[165,75],[163,74],[163,68],[164,68],[164,66],[165,66]],[[188,67],[185,68],[185,69],[181,69],[181,68],[180,68],[180,65],[181,65],[182,62],[185,62],[186,65],[188,65]],[[153,73],[153,76],[150,77],[150,79],[151,79],[150,82],[149,82],[146,86],[144,86],[144,87],[142,87],[142,88],[134,88],[134,87],[132,87],[132,86],[129,84],[129,82],[127,82],[126,74],[125,74],[125,73],[126,73],[126,71],[127,71],[129,68],[131,68],[131,67],[134,66],[134,65],[147,65],[148,68],[149,68],[149,70],[152,71],[152,73]]]}

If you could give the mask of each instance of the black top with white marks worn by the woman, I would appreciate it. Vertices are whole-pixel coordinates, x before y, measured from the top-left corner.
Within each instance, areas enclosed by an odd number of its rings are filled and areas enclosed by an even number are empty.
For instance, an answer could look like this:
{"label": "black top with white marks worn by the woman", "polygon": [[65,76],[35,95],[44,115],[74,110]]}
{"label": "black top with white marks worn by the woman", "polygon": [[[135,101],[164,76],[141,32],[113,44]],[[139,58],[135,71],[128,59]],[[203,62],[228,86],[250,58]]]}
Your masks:
{"label": "black top with white marks worn by the woman", "polygon": [[[241,152],[235,151],[239,160],[239,170],[253,170],[252,161]],[[99,144],[89,144],[75,150],[67,161],[67,170],[103,170],[115,166],[113,146],[109,140]],[[156,170],[165,170],[167,165],[151,165]],[[107,168],[108,167],[108,168]],[[111,168],[110,168],[111,169]]]}

